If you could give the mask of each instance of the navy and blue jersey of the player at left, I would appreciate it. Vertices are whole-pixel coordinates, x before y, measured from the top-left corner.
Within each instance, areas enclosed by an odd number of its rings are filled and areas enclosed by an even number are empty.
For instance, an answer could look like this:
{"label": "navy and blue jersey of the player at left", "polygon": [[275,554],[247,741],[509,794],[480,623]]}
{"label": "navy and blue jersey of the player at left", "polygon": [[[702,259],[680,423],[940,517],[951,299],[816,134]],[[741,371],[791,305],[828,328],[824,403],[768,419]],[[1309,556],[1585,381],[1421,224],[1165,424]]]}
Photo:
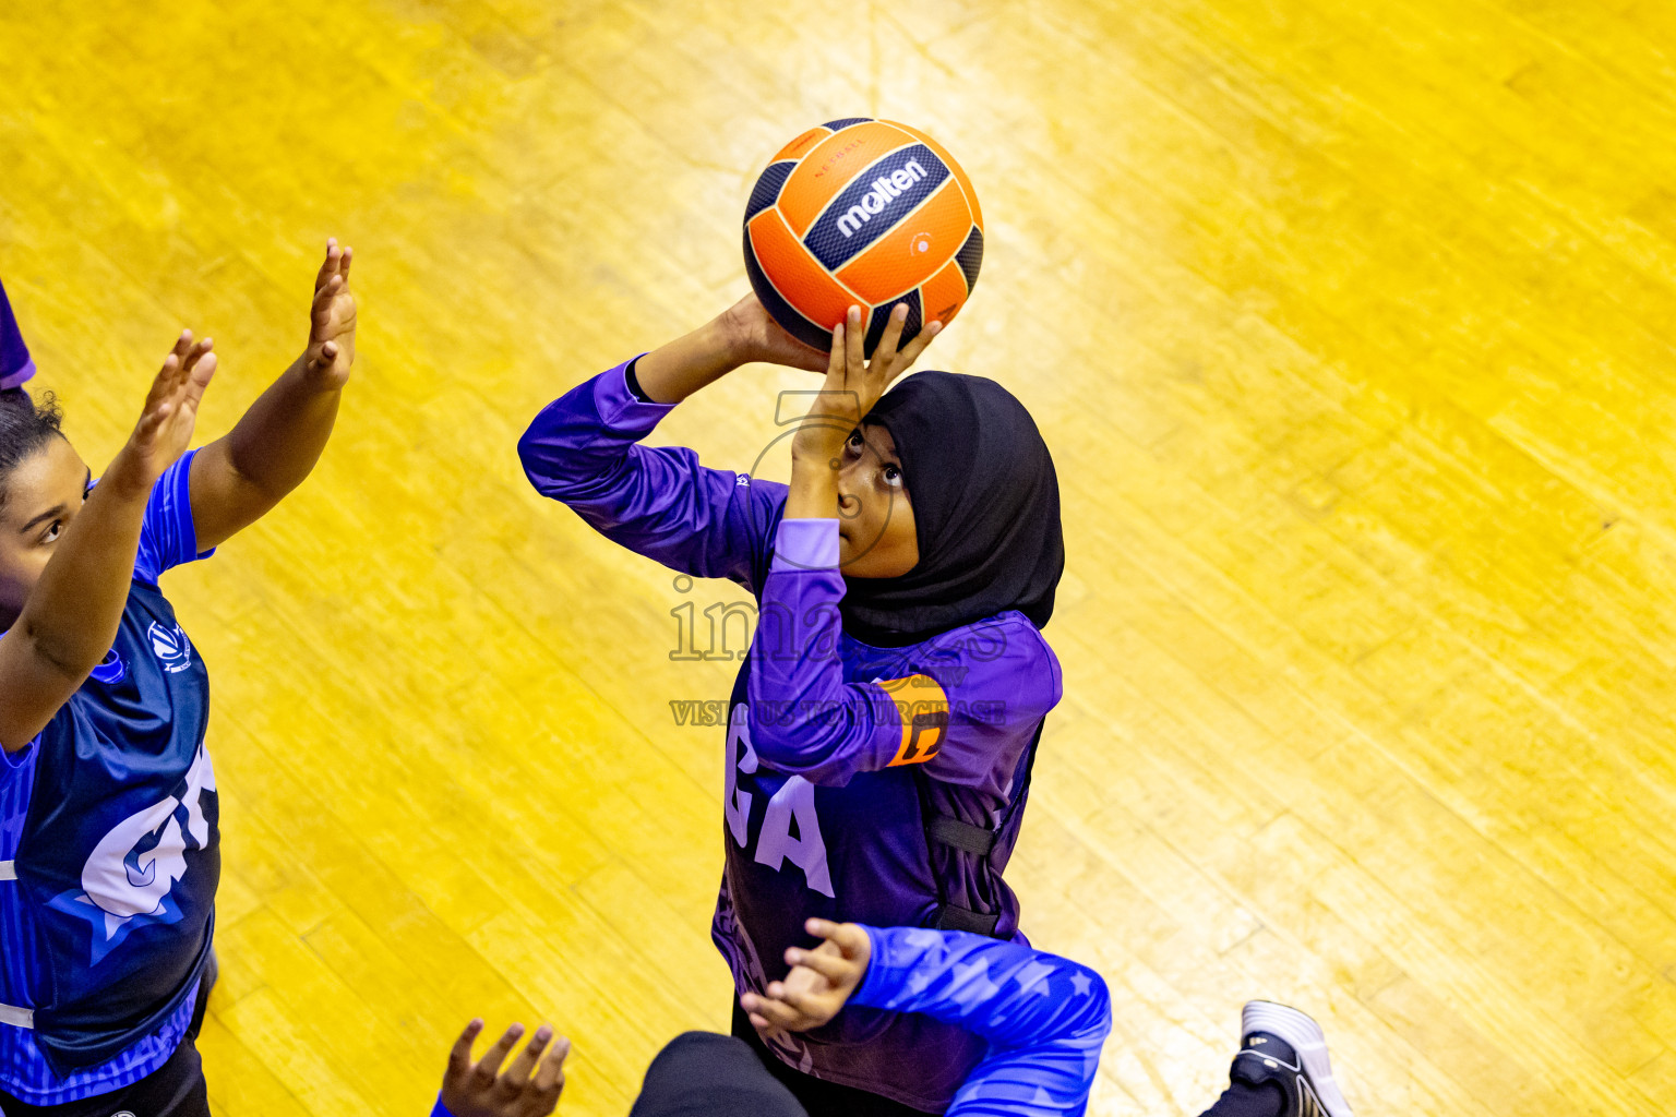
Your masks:
{"label": "navy and blue jersey of the player at left", "polygon": [[221,874],[210,678],[158,576],[194,558],[191,456],[153,491],[111,653],[0,760],[0,1087],[35,1105],[161,1067],[191,1018]]}

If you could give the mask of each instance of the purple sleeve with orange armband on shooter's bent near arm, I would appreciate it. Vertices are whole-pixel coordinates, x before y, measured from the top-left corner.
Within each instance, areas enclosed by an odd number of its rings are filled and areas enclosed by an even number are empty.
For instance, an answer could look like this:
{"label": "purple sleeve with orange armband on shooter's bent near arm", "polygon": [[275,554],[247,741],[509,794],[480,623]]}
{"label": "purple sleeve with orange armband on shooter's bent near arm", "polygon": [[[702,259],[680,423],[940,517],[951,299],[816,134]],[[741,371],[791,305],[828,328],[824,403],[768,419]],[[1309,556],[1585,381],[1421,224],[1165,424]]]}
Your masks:
{"label": "purple sleeve with orange armband on shooter's bent near arm", "polygon": [[786,519],[763,583],[747,682],[751,744],[769,769],[843,785],[855,772],[923,764],[947,784],[1004,795],[1041,718],[1059,702],[1059,661],[1021,613],[903,648],[890,678],[851,682],[838,653],[836,519]]}

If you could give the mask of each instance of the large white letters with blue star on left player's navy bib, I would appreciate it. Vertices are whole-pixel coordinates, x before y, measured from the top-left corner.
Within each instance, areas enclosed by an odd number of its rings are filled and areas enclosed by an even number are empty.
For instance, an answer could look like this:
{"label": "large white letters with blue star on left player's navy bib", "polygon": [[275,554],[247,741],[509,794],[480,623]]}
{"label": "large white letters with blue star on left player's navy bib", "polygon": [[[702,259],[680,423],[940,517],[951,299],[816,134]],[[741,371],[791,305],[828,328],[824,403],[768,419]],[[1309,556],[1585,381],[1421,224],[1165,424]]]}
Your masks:
{"label": "large white letters with blue star on left player's navy bib", "polygon": [[142,926],[184,918],[169,893],[186,876],[186,851],[210,844],[203,797],[215,789],[210,754],[199,745],[184,787],[117,822],[82,866],[82,891],[60,893],[49,901],[92,924],[89,965],[97,966]]}

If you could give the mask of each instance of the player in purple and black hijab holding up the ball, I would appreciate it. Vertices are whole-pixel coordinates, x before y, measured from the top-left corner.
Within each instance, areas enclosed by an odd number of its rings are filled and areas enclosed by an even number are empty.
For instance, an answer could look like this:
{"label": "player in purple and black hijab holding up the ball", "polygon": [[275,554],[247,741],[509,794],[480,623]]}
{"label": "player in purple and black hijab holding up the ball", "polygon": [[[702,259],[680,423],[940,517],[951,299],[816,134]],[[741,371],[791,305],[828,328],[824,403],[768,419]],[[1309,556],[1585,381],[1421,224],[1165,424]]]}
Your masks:
{"label": "player in purple and black hijab holding up the ball", "polygon": [[[851,310],[823,357],[747,296],[573,389],[520,442],[531,484],[610,539],[758,598],[712,924],[741,995],[786,975],[810,916],[1021,938],[1001,872],[1059,702],[1041,636],[1064,568],[1058,479],[992,380],[923,372],[885,395],[939,330],[898,352],[902,322],[897,308],[868,363]],[[637,445],[747,362],[826,373],[789,487]],[[816,1117],[942,1112],[984,1050],[877,1010],[766,1045],[736,1010],[734,1033]]]}

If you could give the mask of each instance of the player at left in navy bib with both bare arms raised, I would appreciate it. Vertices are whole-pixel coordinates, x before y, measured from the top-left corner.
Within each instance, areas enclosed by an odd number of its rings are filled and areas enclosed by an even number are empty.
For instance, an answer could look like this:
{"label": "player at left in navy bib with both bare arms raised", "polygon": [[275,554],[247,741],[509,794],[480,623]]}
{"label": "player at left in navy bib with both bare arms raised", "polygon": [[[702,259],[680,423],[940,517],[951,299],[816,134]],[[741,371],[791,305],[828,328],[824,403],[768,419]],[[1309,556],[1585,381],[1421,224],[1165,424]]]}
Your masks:
{"label": "player at left in navy bib with both bare arms raised", "polygon": [[[0,392],[0,1112],[208,1114],[193,1011],[220,881],[210,683],[158,588],[295,489],[355,353],[327,245],[302,357],[196,452],[183,333],[99,482],[55,405]],[[10,315],[7,315],[10,318]]]}

